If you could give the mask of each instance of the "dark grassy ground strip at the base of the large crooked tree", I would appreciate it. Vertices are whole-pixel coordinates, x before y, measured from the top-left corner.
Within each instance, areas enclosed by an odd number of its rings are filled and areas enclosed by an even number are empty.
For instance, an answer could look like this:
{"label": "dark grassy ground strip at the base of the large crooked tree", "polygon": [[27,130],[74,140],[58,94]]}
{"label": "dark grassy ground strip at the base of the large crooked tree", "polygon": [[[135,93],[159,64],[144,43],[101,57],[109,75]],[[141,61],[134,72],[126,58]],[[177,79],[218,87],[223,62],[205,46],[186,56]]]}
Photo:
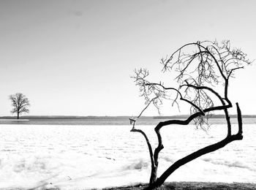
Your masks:
{"label": "dark grassy ground strip at the base of the large crooked tree", "polygon": [[[103,190],[111,189],[120,189],[120,190],[141,190],[146,188],[147,184],[145,183],[135,183],[131,186],[118,186],[118,187],[108,187]],[[220,189],[220,190],[231,190],[231,189],[244,189],[252,190],[256,189],[256,183],[222,183],[222,182],[187,182],[187,181],[178,181],[178,182],[167,182],[163,186],[157,188],[157,190],[194,190],[194,189]]]}

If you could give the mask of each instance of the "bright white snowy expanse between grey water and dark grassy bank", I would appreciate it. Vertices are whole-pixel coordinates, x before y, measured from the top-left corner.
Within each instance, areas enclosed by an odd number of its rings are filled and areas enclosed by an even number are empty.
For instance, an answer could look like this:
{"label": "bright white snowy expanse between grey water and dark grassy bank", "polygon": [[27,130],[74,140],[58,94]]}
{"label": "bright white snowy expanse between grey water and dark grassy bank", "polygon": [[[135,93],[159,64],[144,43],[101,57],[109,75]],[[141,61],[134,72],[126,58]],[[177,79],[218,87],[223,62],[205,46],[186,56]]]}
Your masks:
{"label": "bright white snowy expanse between grey water and dark grassy bank", "polygon": [[[157,145],[154,126],[140,126]],[[236,126],[235,126],[236,128]],[[141,134],[131,126],[0,125],[0,189],[89,189],[148,182],[150,161]],[[166,126],[159,174],[177,159],[225,137],[225,125],[208,132]],[[233,129],[234,133],[236,129]],[[244,125],[244,140],[176,170],[167,180],[256,181],[256,126]]]}

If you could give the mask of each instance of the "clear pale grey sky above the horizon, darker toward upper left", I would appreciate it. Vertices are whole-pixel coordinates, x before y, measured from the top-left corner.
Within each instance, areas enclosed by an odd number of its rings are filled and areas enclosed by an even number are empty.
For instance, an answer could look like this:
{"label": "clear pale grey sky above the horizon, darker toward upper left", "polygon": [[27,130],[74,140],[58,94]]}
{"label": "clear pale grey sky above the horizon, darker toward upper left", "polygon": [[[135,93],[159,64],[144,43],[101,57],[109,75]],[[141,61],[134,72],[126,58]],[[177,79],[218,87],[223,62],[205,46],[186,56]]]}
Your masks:
{"label": "clear pale grey sky above the horizon, darker toward upper left", "polygon": [[[138,115],[135,68],[160,72],[160,58],[205,39],[230,39],[255,59],[255,20],[253,0],[0,0],[0,115],[16,92],[30,115]],[[256,114],[255,64],[230,81],[244,114]]]}

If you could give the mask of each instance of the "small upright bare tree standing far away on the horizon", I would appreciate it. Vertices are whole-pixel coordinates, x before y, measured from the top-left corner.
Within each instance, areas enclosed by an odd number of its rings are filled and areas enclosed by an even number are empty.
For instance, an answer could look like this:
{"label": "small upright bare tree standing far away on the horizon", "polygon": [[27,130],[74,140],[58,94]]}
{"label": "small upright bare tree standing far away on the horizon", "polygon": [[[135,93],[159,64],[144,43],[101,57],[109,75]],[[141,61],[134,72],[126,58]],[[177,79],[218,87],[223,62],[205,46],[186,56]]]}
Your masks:
{"label": "small upright bare tree standing far away on the horizon", "polygon": [[20,114],[29,113],[29,99],[21,94],[16,93],[9,96],[9,99],[12,102],[12,110],[11,113],[17,113],[17,119],[19,119]]}

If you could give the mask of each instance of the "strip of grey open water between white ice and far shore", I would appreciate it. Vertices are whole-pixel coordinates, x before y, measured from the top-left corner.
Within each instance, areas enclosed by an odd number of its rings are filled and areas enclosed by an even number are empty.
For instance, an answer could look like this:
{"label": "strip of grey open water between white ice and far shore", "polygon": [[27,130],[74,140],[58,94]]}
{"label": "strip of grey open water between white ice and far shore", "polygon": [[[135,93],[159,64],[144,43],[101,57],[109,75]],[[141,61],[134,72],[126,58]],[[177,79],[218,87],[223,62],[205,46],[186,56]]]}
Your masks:
{"label": "strip of grey open water between white ice and far shore", "polygon": [[[179,118],[185,120],[185,118]],[[166,118],[140,118],[138,125],[157,125]],[[237,123],[236,118],[230,118],[231,123]],[[193,121],[191,122],[193,123]],[[225,124],[225,118],[211,118],[211,124]],[[244,124],[256,124],[256,118],[243,118]],[[0,124],[22,124],[22,125],[129,125],[129,117],[102,117],[102,118],[31,118],[29,120],[7,120],[0,119]]]}

